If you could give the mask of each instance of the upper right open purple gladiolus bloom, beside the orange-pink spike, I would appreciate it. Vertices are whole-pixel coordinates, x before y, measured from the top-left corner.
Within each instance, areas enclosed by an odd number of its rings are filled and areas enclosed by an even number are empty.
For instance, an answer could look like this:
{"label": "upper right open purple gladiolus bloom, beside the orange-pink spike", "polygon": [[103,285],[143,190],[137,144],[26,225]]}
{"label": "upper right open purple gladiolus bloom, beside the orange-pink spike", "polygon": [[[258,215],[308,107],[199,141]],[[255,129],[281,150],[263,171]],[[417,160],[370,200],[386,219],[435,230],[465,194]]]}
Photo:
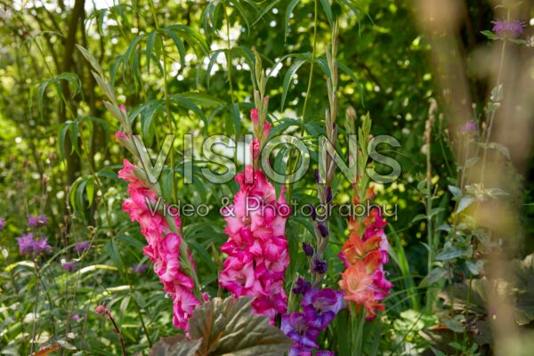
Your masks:
{"label": "upper right open purple gladiolus bloom, beside the orange-pink spike", "polygon": [[320,330],[326,329],[343,309],[343,296],[343,292],[330,288],[312,289],[306,293],[301,305],[308,325]]}

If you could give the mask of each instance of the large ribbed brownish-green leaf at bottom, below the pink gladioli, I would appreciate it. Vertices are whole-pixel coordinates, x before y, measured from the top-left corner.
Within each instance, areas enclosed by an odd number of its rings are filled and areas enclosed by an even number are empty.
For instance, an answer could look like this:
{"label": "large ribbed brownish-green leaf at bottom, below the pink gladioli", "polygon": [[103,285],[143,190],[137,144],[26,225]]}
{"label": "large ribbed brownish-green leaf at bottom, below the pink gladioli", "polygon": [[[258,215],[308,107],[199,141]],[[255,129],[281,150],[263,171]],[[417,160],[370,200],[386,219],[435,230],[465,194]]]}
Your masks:
{"label": "large ribbed brownish-green leaf at bottom, below the pink gladioli", "polygon": [[200,355],[280,356],[292,342],[269,319],[255,315],[248,297],[214,298],[193,312],[189,335],[201,339]]}

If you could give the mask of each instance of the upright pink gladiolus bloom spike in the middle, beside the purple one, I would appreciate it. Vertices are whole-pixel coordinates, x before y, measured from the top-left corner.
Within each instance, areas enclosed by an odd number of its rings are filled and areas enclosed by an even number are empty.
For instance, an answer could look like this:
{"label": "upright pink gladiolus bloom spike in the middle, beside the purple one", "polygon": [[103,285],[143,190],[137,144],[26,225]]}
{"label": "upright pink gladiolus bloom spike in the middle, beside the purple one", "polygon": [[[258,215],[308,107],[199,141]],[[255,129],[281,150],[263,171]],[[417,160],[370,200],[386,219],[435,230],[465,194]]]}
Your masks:
{"label": "upright pink gladiolus bloom spike in the middle, beside the purple one", "polygon": [[[259,146],[259,142],[255,140]],[[255,152],[255,142],[251,150]],[[259,147],[258,147],[259,149]],[[250,182],[246,180],[251,177]],[[285,224],[291,209],[282,194],[276,193],[263,172],[247,166],[236,176],[239,192],[234,205],[228,206],[224,232],[229,239],[221,247],[228,255],[219,284],[236,297],[254,299],[255,312],[268,315],[271,322],[277,313],[287,310],[283,289],[284,272],[289,263]]]}

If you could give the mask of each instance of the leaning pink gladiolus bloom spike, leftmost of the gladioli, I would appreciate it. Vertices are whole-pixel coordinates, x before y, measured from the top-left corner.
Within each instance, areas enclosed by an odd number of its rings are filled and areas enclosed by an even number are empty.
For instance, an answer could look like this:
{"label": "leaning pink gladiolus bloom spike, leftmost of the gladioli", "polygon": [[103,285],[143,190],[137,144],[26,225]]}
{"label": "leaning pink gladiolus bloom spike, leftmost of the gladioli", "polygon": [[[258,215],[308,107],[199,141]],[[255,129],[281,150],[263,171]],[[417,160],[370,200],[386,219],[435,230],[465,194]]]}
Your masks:
{"label": "leaning pink gladiolus bloom spike, leftmost of the gladioli", "polygon": [[[148,243],[142,251],[154,263],[154,271],[164,290],[173,298],[174,326],[187,331],[187,322],[200,302],[191,292],[193,280],[180,270],[182,237],[171,231],[162,215],[150,213],[147,204],[156,203],[156,194],[135,176],[134,169],[135,166],[125,159],[124,168],[118,172],[118,176],[128,182],[130,194],[123,203],[123,210],[141,226],[141,233]],[[180,217],[176,216],[174,222],[179,228]]]}

